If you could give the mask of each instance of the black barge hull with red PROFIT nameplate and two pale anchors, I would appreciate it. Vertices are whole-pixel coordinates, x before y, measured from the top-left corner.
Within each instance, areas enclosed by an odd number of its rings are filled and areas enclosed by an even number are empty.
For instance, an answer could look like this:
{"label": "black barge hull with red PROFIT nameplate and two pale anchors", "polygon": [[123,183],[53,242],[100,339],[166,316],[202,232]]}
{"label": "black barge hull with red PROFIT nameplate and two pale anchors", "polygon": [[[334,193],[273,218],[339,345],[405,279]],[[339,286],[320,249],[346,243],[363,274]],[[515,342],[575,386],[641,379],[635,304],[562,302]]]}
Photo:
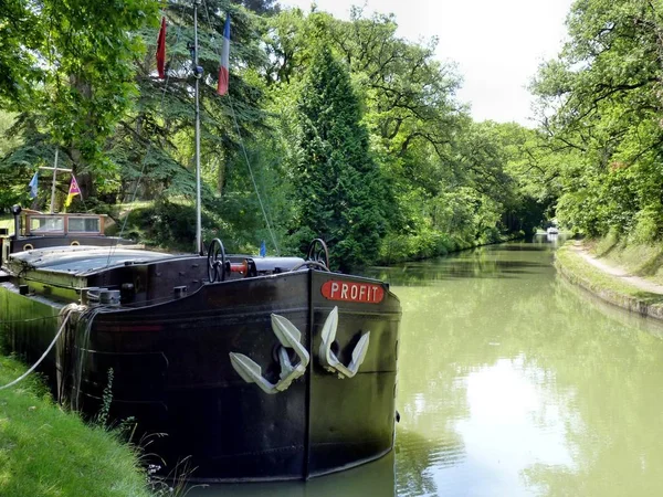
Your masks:
{"label": "black barge hull with red PROFIT nameplate and two pale anchors", "polygon": [[[178,261],[114,271],[171,285],[169,267],[200,260]],[[7,279],[4,340],[34,361],[67,303],[50,295],[67,289]],[[311,267],[199,282],[178,298],[73,313],[42,364],[59,400],[95,416],[105,395],[110,420],[133,420],[134,442],[165,473],[186,461],[190,479],[306,479],[392,448],[401,311],[386,284]]]}

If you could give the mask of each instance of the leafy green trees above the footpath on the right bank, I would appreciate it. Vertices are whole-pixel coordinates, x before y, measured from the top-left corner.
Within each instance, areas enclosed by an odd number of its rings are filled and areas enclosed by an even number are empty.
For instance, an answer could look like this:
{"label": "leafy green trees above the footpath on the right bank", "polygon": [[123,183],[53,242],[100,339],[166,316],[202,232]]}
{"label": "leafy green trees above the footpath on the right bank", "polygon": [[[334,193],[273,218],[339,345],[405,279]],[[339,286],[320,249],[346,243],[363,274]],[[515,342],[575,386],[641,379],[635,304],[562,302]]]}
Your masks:
{"label": "leafy green trees above the footpath on the right bank", "polygon": [[560,221],[589,235],[663,236],[663,7],[642,0],[578,0],[569,41],[545,64],[544,144],[558,160]]}

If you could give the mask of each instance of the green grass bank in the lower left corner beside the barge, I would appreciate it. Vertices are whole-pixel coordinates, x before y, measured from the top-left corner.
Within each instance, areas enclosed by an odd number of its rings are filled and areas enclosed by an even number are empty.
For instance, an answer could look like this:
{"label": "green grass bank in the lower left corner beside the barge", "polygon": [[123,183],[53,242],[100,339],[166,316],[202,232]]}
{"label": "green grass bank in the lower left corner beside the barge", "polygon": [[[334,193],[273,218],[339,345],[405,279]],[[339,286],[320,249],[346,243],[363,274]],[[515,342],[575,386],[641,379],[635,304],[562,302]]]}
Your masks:
{"label": "green grass bank in the lower left corner beside the barge", "polygon": [[[25,371],[0,356],[0,385]],[[145,474],[117,436],[55,405],[31,374],[0,390],[0,496],[149,496]]]}

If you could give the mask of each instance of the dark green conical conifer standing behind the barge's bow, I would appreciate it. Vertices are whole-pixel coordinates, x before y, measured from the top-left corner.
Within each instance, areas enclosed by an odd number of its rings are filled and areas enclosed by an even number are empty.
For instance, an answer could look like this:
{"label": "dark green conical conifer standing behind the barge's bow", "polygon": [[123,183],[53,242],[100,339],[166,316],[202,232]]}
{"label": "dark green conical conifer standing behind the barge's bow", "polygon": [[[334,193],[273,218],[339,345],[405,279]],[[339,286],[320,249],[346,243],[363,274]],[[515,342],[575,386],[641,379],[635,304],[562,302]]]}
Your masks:
{"label": "dark green conical conifer standing behind the barge's bow", "polygon": [[369,264],[385,234],[385,188],[349,74],[325,47],[311,63],[298,114],[297,235],[325,239],[341,269]]}

